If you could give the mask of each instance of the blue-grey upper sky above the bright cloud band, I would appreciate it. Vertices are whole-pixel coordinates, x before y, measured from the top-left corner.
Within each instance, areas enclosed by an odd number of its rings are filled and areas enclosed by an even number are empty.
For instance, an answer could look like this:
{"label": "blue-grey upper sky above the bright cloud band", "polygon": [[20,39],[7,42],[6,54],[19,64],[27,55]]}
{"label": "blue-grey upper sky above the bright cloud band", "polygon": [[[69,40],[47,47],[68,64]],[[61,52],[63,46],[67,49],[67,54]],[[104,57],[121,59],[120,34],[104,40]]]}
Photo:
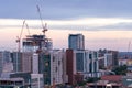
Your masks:
{"label": "blue-grey upper sky above the bright cloud band", "polygon": [[132,0],[1,0],[0,18],[37,19],[132,18]]}

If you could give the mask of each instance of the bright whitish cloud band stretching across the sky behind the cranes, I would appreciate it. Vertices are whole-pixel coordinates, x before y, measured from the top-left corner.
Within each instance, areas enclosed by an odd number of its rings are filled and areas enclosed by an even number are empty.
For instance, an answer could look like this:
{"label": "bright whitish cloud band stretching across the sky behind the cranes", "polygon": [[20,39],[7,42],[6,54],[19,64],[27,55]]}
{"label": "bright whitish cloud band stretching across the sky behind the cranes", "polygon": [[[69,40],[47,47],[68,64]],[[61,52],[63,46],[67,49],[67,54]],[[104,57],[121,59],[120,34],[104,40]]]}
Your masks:
{"label": "bright whitish cloud band stretching across the sky behind the cranes", "polygon": [[[44,20],[51,30],[78,30],[78,31],[132,31],[132,19],[122,18],[82,18],[69,20]],[[42,29],[41,20],[26,20],[30,29]],[[0,28],[21,29],[23,20],[0,19]]]}

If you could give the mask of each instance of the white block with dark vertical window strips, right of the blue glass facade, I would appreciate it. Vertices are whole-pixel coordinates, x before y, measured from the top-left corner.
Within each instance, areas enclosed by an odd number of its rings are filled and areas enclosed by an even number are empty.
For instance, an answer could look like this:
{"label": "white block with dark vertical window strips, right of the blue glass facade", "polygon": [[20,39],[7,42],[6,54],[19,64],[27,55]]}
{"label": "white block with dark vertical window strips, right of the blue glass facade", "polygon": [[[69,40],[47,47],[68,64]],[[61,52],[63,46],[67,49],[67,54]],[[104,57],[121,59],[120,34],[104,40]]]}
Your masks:
{"label": "white block with dark vertical window strips, right of the blue glass facade", "polygon": [[86,77],[99,77],[99,62],[98,52],[86,51],[85,52],[85,76]]}

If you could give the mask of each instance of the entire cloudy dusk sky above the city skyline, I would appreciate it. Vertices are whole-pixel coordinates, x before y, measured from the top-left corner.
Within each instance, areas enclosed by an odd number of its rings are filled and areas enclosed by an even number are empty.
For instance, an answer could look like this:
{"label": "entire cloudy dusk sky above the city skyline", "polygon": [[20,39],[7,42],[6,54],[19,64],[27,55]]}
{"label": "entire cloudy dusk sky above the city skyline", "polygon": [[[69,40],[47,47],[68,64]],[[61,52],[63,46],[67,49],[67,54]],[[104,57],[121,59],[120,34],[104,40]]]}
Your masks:
{"label": "entire cloudy dusk sky above the city skyline", "polygon": [[[0,50],[16,50],[23,20],[42,34],[36,6],[54,48],[67,48],[68,35],[82,33],[87,50],[128,51],[132,41],[132,0],[1,0]],[[26,28],[22,37],[28,35]],[[130,50],[132,46],[130,45]]]}

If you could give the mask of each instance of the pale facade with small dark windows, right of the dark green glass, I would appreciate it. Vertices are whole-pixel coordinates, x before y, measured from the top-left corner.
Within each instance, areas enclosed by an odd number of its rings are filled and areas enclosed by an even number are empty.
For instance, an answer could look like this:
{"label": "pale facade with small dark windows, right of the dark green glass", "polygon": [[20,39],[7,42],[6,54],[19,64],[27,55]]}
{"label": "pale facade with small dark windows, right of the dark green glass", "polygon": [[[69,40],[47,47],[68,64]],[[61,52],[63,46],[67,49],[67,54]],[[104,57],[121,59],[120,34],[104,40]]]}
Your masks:
{"label": "pale facade with small dark windows, right of the dark green glass", "polygon": [[53,51],[51,52],[51,85],[63,84],[63,51]]}

